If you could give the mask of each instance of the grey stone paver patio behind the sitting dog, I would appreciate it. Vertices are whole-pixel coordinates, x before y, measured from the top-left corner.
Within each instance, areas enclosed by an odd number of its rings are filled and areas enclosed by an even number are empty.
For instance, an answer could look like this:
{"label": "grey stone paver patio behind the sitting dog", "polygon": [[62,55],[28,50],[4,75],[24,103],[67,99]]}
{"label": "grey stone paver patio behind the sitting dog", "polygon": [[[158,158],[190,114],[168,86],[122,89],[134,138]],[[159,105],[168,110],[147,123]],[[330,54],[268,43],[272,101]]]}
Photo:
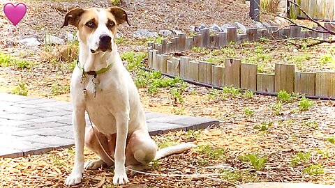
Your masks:
{"label": "grey stone paver patio behind the sitting dog", "polygon": [[[74,145],[72,104],[0,93],[0,157],[36,155]],[[146,112],[151,135],[195,130],[218,120]],[[87,117],[87,126],[89,126]]]}

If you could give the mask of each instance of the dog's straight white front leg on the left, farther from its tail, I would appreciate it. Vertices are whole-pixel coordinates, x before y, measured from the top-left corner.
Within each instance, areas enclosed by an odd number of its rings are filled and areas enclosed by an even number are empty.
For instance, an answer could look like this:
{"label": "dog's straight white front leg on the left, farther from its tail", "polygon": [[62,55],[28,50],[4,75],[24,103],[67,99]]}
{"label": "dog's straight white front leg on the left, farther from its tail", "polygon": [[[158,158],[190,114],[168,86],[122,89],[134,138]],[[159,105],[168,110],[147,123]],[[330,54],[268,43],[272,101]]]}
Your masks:
{"label": "dog's straight white front leg on the left, farther from its tail", "polygon": [[66,185],[77,185],[82,180],[84,171],[84,135],[85,135],[85,109],[73,109],[73,133],[75,136],[75,165],[65,180]]}

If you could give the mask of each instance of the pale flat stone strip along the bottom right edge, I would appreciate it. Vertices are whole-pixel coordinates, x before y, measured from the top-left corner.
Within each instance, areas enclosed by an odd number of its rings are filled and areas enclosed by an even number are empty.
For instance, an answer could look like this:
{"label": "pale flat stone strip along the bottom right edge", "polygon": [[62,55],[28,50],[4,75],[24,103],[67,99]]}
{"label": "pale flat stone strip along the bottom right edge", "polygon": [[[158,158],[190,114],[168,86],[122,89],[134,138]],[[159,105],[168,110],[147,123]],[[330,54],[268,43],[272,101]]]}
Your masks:
{"label": "pale flat stone strip along the bottom right edge", "polygon": [[243,188],[330,188],[335,185],[321,185],[300,182],[258,182],[240,185]]}

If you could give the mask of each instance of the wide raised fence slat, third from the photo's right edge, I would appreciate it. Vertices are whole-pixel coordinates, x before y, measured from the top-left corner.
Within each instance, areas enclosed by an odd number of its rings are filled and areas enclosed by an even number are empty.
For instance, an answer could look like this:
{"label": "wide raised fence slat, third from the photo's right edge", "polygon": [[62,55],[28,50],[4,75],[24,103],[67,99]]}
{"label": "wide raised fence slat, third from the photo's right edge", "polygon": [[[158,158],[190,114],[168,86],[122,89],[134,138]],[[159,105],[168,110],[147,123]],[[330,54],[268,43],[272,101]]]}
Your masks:
{"label": "wide raised fence slat, third from the photo's right edge", "polygon": [[295,65],[276,63],[274,65],[274,91],[295,91]]}

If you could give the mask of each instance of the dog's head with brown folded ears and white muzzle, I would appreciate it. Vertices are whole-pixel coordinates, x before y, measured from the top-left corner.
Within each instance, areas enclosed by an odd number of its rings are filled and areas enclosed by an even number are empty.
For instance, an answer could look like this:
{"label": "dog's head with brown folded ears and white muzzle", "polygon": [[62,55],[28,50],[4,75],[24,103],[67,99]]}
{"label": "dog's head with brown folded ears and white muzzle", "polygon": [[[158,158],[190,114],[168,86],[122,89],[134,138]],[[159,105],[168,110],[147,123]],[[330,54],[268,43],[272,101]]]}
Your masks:
{"label": "dog's head with brown folded ears and white muzzle", "polygon": [[128,22],[127,13],[119,7],[112,8],[74,8],[65,16],[64,24],[78,29],[80,42],[89,47],[91,53],[112,51],[117,26]]}

